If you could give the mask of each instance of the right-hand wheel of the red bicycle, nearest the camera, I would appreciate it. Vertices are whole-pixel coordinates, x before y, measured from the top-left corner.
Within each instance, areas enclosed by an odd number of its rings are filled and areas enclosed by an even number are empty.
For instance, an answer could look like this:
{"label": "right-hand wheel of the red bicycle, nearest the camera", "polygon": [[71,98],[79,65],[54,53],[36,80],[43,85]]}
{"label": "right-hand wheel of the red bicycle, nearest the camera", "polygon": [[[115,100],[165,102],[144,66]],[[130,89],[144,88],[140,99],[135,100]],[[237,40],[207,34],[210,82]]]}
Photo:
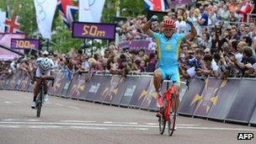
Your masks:
{"label": "right-hand wheel of the red bicycle, nearest the camera", "polygon": [[[174,104],[173,107],[176,108],[176,101],[175,101],[176,99],[173,99],[173,98],[172,98],[171,104]],[[168,119],[168,133],[169,133],[169,136],[173,136],[173,132],[175,131],[174,130],[175,123],[176,123],[176,109],[173,110],[172,114],[171,114],[171,111],[170,111],[170,115],[169,115],[169,119]]]}

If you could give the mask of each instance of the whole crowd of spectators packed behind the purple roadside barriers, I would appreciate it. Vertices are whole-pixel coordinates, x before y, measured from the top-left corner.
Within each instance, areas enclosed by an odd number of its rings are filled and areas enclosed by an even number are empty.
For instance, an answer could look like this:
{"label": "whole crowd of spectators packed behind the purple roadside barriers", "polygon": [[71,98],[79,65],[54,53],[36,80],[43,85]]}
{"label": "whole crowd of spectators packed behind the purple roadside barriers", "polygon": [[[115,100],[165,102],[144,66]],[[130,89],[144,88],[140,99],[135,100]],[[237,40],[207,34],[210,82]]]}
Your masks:
{"label": "whole crowd of spectators packed behind the purple roadside barriers", "polygon": [[[170,9],[163,19],[176,21],[176,32],[187,33],[190,21],[195,25],[197,36],[186,40],[180,47],[179,68],[183,77],[256,77],[256,10],[255,1],[204,1],[188,8]],[[253,15],[255,14],[255,16]],[[160,19],[160,18],[159,18]],[[154,40],[143,34],[141,28],[147,17],[120,21],[117,29],[120,40]],[[161,33],[161,21],[152,23],[151,29]],[[130,50],[110,43],[104,55],[88,56],[83,51],[71,50],[67,54],[51,52],[56,72],[67,72],[72,77],[81,72],[109,72],[126,76],[128,73],[154,72],[157,67],[156,44],[147,49]],[[6,77],[17,71],[33,75],[35,59],[21,57],[13,61],[0,61],[0,75]]]}

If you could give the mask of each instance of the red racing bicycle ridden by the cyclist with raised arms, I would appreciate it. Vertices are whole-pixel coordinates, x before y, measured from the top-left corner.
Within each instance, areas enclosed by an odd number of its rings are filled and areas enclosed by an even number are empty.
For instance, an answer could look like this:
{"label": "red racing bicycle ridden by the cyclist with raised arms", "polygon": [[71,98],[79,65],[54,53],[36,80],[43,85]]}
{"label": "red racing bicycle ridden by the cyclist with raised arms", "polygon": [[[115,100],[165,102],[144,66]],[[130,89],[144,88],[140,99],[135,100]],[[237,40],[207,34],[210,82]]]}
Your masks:
{"label": "red racing bicycle ridden by the cyclist with raised arms", "polygon": [[[163,107],[160,108],[161,115],[158,117],[159,132],[161,135],[163,135],[166,122],[168,122],[168,134],[169,136],[173,136],[177,114],[175,94],[176,88],[174,86],[174,83],[184,83],[189,88],[189,81],[173,82],[172,80],[170,80],[170,77],[168,77],[167,80],[163,80],[163,83],[167,83],[167,89],[163,93]],[[171,87],[169,87],[170,83],[172,83]]]}

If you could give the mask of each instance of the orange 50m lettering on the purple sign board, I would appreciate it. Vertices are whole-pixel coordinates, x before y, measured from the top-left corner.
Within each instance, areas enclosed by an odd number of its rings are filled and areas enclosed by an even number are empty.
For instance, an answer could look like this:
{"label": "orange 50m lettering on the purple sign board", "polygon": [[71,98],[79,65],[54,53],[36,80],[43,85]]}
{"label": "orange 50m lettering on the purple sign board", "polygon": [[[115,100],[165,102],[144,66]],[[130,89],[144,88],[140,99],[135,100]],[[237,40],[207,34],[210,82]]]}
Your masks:
{"label": "orange 50m lettering on the purple sign board", "polygon": [[105,36],[104,30],[99,30],[95,25],[83,25],[82,35],[92,35],[92,36]]}

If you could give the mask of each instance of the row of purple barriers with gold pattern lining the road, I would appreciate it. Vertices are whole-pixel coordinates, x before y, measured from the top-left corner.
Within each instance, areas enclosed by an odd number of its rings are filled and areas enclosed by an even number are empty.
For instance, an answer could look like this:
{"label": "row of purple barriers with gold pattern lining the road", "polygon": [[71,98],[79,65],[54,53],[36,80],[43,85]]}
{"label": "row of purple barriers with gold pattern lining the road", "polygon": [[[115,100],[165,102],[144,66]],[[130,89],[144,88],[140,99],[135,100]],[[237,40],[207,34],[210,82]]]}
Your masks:
{"label": "row of purple barriers with gold pattern lining the road", "polygon": [[[152,76],[95,74],[88,79],[88,75],[77,73],[68,77],[66,73],[58,72],[55,85],[50,87],[51,83],[48,83],[48,93],[99,104],[157,110]],[[179,114],[256,125],[255,84],[253,78],[193,78],[189,89],[181,85]],[[1,79],[0,88],[33,92],[34,85],[30,83],[29,75],[17,72]],[[163,83],[163,92],[165,88],[166,83]]]}

